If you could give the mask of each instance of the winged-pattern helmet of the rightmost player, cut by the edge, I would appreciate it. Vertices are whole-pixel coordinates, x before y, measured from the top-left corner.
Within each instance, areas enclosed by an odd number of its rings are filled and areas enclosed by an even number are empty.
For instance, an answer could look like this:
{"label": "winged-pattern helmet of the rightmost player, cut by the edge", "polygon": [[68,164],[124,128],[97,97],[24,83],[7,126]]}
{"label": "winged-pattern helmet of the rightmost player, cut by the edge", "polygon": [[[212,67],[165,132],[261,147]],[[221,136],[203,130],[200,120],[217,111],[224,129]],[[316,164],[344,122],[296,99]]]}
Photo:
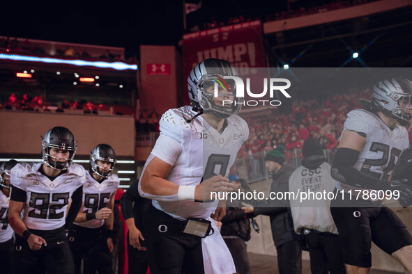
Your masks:
{"label": "winged-pattern helmet of the rightmost player, cut by the edge", "polygon": [[384,80],[372,91],[372,104],[376,111],[394,118],[407,126],[412,118],[412,82],[404,78]]}

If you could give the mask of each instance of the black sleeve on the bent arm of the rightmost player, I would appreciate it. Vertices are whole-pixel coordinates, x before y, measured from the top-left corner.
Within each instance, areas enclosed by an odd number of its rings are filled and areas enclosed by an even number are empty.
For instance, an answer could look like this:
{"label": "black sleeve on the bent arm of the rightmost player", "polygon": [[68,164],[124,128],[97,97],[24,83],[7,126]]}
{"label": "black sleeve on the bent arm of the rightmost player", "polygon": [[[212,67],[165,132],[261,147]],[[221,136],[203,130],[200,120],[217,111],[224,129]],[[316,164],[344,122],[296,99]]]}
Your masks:
{"label": "black sleeve on the bent arm of the rightmost player", "polygon": [[350,148],[338,148],[330,169],[333,179],[344,184],[360,188],[386,190],[390,186],[387,181],[367,175],[357,170],[353,165],[358,161],[359,152]]}

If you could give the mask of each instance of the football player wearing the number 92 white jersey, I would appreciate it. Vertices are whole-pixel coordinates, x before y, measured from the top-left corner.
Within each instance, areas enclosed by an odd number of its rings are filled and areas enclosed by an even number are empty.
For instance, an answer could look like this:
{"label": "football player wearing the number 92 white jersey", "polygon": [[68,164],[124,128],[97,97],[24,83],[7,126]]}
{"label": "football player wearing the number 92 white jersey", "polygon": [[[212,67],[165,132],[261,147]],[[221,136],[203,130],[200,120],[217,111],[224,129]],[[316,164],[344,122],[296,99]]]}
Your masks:
{"label": "football player wearing the number 92 white jersey", "polygon": [[42,141],[43,162],[18,163],[10,172],[8,220],[16,234],[15,273],[33,273],[43,266],[49,274],[75,273],[66,229],[82,205],[85,171],[73,163],[76,150],[75,136],[65,127],[54,127]]}

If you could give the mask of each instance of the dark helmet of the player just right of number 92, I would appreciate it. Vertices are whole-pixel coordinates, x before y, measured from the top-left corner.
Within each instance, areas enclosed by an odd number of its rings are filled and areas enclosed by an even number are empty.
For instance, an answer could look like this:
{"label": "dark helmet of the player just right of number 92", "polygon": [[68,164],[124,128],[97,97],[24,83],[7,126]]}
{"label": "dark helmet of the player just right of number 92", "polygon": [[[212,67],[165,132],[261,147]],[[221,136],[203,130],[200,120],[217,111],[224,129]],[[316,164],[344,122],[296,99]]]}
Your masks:
{"label": "dark helmet of the player just right of number 92", "polygon": [[[99,166],[98,161],[110,163],[110,168],[105,171],[105,168]],[[116,165],[116,153],[113,148],[106,144],[97,145],[90,154],[90,168],[91,171],[100,177],[107,178],[112,175],[114,166]]]}

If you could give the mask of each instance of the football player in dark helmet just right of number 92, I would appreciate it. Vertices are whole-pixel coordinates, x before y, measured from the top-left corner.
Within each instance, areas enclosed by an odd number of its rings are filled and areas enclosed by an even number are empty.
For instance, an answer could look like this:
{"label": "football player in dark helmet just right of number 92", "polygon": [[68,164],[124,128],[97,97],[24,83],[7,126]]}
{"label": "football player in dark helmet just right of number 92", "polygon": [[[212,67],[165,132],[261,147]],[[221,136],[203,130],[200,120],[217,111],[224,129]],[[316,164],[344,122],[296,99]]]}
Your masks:
{"label": "football player in dark helmet just right of number 92", "polygon": [[[112,174],[116,165],[113,148],[100,144],[90,154],[90,169],[83,186],[83,202],[68,239],[75,259],[75,271],[80,273],[83,255],[98,273],[113,273],[113,206],[119,188],[119,177]],[[105,232],[104,227],[106,226]]]}

